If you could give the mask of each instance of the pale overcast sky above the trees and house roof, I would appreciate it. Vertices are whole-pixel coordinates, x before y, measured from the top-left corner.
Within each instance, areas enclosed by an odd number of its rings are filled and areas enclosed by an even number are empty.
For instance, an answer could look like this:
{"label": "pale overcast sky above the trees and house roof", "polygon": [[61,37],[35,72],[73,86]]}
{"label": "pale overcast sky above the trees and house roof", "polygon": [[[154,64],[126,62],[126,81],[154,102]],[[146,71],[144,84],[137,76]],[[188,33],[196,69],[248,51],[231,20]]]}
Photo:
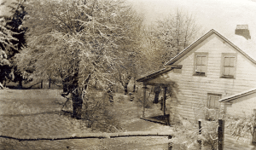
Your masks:
{"label": "pale overcast sky above the trees and house roof", "polygon": [[[0,0],[0,2],[12,0]],[[215,29],[224,36],[234,33],[236,25],[248,25],[252,38],[256,38],[256,0],[127,0],[145,23],[151,24],[175,9],[195,14],[204,31]],[[0,14],[6,10],[0,7]],[[255,28],[255,29],[254,29]],[[228,37],[227,37],[228,38]]]}

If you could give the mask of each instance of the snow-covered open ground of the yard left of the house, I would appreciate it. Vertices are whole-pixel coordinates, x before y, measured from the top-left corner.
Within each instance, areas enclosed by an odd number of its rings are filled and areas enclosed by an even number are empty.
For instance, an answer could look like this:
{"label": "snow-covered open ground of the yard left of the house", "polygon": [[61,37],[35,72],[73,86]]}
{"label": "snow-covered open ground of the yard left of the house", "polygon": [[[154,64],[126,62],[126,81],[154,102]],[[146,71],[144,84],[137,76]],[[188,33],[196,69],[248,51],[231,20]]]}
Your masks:
{"label": "snow-covered open ground of the yard left of the house", "polygon": [[[66,99],[59,89],[0,90],[0,134],[23,136],[86,135],[94,132],[81,120],[61,112]],[[123,110],[124,131],[170,130],[137,118],[137,105],[132,101],[115,102]],[[114,139],[79,139],[61,141],[16,141],[0,138],[0,149],[166,149],[166,137],[122,137]]]}

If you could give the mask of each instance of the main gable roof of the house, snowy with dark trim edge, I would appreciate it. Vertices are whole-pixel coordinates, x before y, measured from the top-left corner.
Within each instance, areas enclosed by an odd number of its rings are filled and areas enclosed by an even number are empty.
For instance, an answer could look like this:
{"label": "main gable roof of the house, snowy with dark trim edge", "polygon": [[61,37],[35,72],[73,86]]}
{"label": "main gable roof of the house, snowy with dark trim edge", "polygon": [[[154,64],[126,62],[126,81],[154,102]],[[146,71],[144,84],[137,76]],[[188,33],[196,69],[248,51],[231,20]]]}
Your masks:
{"label": "main gable roof of the house, snowy with dark trim edge", "polygon": [[[220,33],[216,32],[214,29],[212,29],[210,32],[207,32],[205,35],[203,35],[201,38],[196,40],[194,43],[190,44],[186,49],[183,49],[183,51],[181,51],[178,55],[176,55],[170,61],[168,61],[166,63],[166,65],[172,65],[173,63],[178,61],[181,57],[183,57],[183,55],[188,54],[190,50],[194,49],[198,44],[200,44],[201,42],[206,40],[212,34],[216,34],[219,38],[222,38],[226,43],[229,43],[230,46],[232,46],[234,49],[239,51],[242,55],[246,56],[248,60],[250,60],[254,64],[256,64],[256,61],[255,61],[256,60],[256,52],[254,52],[254,51],[256,51],[256,49],[254,50],[254,48],[256,48],[256,44],[253,43],[252,40],[247,40],[245,38],[242,38],[241,36],[237,36],[237,35],[234,34],[234,36],[232,36],[233,37],[232,41],[234,41],[234,42],[232,43],[227,38],[224,38],[223,35],[221,35]],[[234,44],[234,43],[236,43],[241,48],[243,48],[243,50],[238,48],[236,46],[236,44]]]}

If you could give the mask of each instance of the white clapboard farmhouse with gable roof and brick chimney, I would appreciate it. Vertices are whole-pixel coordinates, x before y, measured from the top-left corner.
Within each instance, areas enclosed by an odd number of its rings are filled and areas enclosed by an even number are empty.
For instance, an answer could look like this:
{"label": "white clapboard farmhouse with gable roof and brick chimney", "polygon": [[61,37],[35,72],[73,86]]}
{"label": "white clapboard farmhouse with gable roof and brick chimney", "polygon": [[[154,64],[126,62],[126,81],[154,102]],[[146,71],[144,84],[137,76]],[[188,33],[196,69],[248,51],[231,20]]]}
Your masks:
{"label": "white clapboard farmhouse with gable roof and brick chimney", "polygon": [[[178,85],[176,92],[166,99],[171,122],[178,118],[212,119],[220,112],[242,113],[239,106],[243,105],[245,110],[249,105],[243,104],[244,99],[251,103],[256,99],[248,97],[247,92],[241,94],[247,97],[236,101],[230,97],[250,90],[253,91],[250,95],[256,95],[253,89],[256,88],[256,45],[248,26],[237,26],[231,37],[224,38],[212,29],[168,61],[165,69],[137,82],[143,82],[145,87],[156,84],[166,87],[171,82]],[[254,105],[247,107],[249,112],[254,108]]]}

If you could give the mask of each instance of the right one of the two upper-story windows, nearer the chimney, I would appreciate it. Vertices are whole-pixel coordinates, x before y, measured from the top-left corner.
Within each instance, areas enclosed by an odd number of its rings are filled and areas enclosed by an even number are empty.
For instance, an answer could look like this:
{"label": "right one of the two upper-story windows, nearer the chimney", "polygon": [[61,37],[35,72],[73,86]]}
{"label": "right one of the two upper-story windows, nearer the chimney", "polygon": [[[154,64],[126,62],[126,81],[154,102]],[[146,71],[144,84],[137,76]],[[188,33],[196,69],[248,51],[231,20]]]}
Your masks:
{"label": "right one of the two upper-story windows, nearer the chimney", "polygon": [[235,78],[236,76],[236,54],[223,53],[222,56],[222,78]]}

